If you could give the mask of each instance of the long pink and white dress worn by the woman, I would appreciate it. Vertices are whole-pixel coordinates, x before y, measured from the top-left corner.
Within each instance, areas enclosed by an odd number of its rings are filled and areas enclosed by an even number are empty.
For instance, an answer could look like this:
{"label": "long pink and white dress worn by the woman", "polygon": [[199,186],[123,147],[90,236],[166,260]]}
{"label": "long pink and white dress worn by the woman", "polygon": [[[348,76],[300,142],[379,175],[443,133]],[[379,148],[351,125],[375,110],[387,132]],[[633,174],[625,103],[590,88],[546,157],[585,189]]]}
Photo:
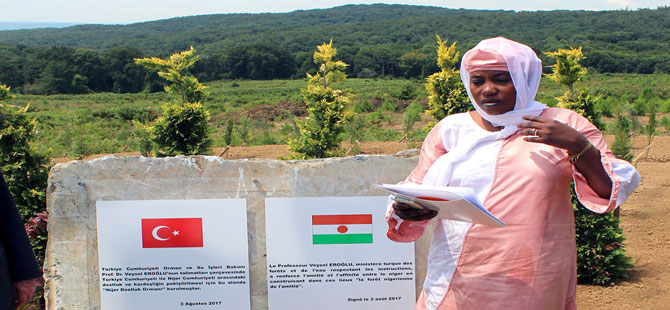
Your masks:
{"label": "long pink and white dress worn by the woman", "polygon": [[[415,309],[576,308],[571,181],[584,206],[603,213],[623,202],[640,177],[632,165],[614,157],[600,131],[579,114],[548,108],[541,116],[575,128],[600,150],[612,179],[610,199],[600,198],[589,187],[563,149],[524,141],[518,132],[499,140],[482,138],[464,160],[453,163],[446,185],[474,188],[506,226],[439,220]],[[477,134],[493,133],[478,128],[467,113],[443,119],[426,137],[419,163],[406,182],[436,185],[424,179],[429,169]],[[428,223],[403,221],[391,208],[387,222],[389,238],[399,242],[416,240]]]}

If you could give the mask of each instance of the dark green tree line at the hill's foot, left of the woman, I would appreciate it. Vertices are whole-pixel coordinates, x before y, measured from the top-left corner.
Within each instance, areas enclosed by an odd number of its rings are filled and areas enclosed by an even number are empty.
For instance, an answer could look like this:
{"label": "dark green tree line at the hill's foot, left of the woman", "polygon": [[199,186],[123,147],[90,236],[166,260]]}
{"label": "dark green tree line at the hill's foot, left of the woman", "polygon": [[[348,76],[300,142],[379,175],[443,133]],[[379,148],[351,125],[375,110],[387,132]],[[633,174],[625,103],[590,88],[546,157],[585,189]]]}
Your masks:
{"label": "dark green tree line at the hill's foot, left of the woman", "polygon": [[[434,51],[398,55],[390,47],[344,47],[350,76],[421,78],[437,70]],[[96,51],[64,46],[0,45],[0,81],[25,94],[137,93],[162,91],[164,81],[134,63],[147,55],[136,47]],[[202,55],[190,73],[201,81],[303,78],[318,67],[310,53],[291,54],[267,43],[238,45]]]}

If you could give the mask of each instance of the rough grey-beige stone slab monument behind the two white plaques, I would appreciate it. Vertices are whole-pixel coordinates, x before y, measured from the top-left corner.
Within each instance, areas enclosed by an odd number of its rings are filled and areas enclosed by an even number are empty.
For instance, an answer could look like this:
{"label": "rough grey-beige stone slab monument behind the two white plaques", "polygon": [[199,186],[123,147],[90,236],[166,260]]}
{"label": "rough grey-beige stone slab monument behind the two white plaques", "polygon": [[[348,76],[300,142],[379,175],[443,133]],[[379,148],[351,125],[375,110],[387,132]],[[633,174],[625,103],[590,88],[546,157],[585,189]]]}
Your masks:
{"label": "rough grey-beige stone slab monument behind the two white plaques", "polygon": [[[265,198],[383,196],[375,185],[403,180],[416,154],[304,161],[107,156],[58,164],[47,188],[47,309],[100,309],[96,201],[225,198],[247,201],[251,308],[267,309]],[[417,296],[429,242],[425,234],[415,246]]]}

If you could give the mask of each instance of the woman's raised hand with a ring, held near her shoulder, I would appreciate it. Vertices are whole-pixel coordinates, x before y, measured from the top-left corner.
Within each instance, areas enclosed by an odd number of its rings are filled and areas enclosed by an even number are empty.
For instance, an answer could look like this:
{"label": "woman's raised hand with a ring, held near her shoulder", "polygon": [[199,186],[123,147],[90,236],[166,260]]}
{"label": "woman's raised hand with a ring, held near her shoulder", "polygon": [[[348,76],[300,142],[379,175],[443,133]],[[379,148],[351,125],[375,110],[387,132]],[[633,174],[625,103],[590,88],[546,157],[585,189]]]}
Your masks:
{"label": "woman's raised hand with a ring, held near her shoulder", "polygon": [[562,148],[571,155],[579,153],[590,143],[579,131],[557,120],[528,115],[523,119],[528,122],[517,127],[521,128],[520,134],[526,136],[526,141]]}

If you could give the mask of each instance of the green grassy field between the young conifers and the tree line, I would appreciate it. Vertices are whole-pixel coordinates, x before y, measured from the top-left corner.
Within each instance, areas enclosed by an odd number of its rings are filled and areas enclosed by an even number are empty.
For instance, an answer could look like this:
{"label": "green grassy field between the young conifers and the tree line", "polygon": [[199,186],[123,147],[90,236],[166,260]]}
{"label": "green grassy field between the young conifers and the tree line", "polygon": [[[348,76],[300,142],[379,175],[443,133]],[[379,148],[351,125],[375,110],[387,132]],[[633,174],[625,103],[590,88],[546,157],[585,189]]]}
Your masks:
{"label": "green grassy field between the young conifers and the tree line", "polygon": [[[296,132],[294,119],[304,115],[300,89],[305,80],[215,81],[208,84],[211,95],[205,106],[212,115],[214,147],[224,146],[223,132],[233,120],[233,145],[283,144]],[[412,101],[427,102],[423,81],[349,79],[338,85],[353,94],[350,108],[359,113],[358,137],[363,141],[400,139],[402,112]],[[598,108],[606,115],[622,111],[643,114],[649,102],[658,107],[658,118],[670,112],[670,75],[589,74],[577,89],[588,88],[600,95]],[[543,79],[537,99],[555,105],[554,97],[565,91]],[[646,94],[643,94],[645,93]],[[30,104],[39,122],[37,146],[52,157],[139,150],[139,131],[133,120],[148,123],[160,113],[161,104],[171,100],[165,93],[85,95],[16,95],[13,105]],[[639,117],[645,122],[646,117]],[[422,138],[415,125],[412,137]],[[356,130],[356,129],[351,129]],[[667,129],[659,127],[667,134]]]}

